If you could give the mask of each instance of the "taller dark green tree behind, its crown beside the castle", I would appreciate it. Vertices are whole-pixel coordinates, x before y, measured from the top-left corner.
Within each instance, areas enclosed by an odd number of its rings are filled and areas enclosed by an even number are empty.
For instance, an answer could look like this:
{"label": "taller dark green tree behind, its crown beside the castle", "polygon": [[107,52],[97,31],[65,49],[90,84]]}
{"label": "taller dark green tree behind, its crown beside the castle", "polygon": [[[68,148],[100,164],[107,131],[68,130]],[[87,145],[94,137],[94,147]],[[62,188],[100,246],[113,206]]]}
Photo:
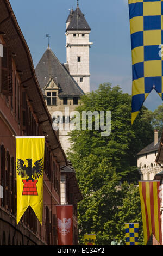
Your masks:
{"label": "taller dark green tree behind, its crown beside the castle", "polygon": [[[111,87],[110,83],[100,84],[99,89],[82,96],[82,111],[111,111],[111,135],[101,136],[101,130],[72,131],[72,151],[70,159],[83,158],[89,154],[107,158],[122,181],[137,182],[137,153],[153,141],[153,130],[150,121],[143,120],[145,111],[142,107],[133,126],[131,125],[131,96],[122,93],[120,87]],[[95,120],[94,126],[95,126]],[[105,120],[106,122],[106,120]]]}

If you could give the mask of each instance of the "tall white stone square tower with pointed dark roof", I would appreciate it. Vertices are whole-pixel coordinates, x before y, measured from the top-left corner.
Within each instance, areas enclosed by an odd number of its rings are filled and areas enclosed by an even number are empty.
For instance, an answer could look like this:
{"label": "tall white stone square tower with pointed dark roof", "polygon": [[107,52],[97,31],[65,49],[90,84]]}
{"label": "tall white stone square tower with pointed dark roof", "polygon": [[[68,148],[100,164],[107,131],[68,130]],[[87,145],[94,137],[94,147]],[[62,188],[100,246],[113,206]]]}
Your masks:
{"label": "tall white stone square tower with pointed dark roof", "polygon": [[76,10],[70,11],[66,21],[66,64],[70,75],[84,93],[90,92],[90,32],[91,28],[77,2]]}

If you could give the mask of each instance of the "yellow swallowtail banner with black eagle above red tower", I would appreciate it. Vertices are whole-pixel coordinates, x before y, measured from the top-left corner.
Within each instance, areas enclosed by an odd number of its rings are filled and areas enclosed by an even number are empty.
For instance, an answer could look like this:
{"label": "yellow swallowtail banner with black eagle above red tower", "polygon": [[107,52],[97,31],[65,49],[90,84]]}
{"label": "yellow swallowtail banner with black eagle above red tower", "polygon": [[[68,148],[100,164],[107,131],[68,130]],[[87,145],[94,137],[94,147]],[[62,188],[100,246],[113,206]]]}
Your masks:
{"label": "yellow swallowtail banner with black eagle above red tower", "polygon": [[17,224],[30,206],[42,225],[45,137],[16,137]]}

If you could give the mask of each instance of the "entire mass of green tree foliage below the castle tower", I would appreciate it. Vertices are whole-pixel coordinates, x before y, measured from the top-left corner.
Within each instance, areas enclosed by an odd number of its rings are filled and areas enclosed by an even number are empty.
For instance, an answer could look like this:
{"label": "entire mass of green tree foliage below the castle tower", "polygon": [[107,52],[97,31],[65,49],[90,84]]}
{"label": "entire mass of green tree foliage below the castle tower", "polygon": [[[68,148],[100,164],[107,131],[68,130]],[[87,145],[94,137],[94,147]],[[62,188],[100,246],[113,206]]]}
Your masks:
{"label": "entire mass of green tree foliage below the castle tower", "polygon": [[141,222],[136,154],[153,140],[150,120],[142,120],[147,109],[141,109],[131,126],[131,96],[104,83],[82,96],[77,111],[111,111],[110,136],[102,137],[101,130],[70,133],[68,156],[84,198],[78,204],[80,243],[86,233],[96,234],[97,245],[124,242],[124,223]]}

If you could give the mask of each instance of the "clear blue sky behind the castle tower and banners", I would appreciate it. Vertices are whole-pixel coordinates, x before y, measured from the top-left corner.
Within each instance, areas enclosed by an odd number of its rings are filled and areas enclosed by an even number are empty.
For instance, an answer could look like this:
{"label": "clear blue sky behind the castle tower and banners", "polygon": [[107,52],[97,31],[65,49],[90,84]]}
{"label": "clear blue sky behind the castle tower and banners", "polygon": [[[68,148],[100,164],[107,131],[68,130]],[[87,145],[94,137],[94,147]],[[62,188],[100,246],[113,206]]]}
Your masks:
{"label": "clear blue sky behind the castle tower and banners", "polygon": [[[50,47],[61,63],[66,62],[66,19],[69,9],[76,9],[76,0],[10,0],[16,19],[33,57],[34,66]],[[90,73],[91,90],[100,83],[117,84],[131,94],[131,46],[128,0],[79,0],[79,7],[91,27]],[[162,103],[152,91],[145,101],[154,110]]]}

